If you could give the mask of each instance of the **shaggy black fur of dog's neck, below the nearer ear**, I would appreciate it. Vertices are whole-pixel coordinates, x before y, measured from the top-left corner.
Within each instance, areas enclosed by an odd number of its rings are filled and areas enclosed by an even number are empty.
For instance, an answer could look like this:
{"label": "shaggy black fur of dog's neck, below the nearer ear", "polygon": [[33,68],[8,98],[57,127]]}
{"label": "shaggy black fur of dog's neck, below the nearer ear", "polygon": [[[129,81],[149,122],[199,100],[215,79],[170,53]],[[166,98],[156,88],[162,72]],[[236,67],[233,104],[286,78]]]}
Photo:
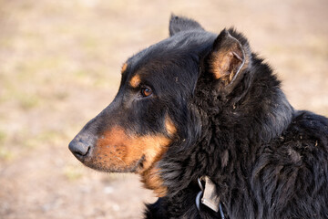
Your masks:
{"label": "shaggy black fur of dog's neck, below the nearer ear", "polygon": [[250,199],[242,195],[247,188],[245,178],[250,176],[257,154],[266,143],[278,138],[292,120],[292,107],[272,69],[254,54],[252,64],[251,68],[245,69],[239,85],[228,95],[222,95],[220,89],[213,89],[218,83],[206,72],[200,75],[195,101],[190,104],[198,115],[190,115],[190,120],[200,118],[201,127],[191,132],[199,135],[196,134],[196,139],[190,136],[184,146],[180,143],[172,146],[164,158],[166,162],[159,162],[161,176],[168,187],[167,199],[180,201],[181,210],[190,208],[184,203],[190,197],[184,195],[191,192],[195,196],[199,192],[199,188],[191,184],[202,175],[210,176],[217,183],[225,211],[245,208],[234,206],[234,203]]}

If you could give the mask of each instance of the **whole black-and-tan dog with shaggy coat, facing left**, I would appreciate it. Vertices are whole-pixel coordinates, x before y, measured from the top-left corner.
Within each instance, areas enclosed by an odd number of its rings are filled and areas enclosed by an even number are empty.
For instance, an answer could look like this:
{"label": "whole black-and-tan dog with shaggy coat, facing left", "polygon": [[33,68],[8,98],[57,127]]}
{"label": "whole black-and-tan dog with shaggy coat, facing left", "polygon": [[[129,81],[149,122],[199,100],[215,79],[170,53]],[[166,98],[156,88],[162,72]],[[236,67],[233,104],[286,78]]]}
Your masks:
{"label": "whole black-and-tan dog with shaggy coat, facing left", "polygon": [[169,38],[128,59],[118,95],[69,149],[140,174],[159,196],[147,218],[328,218],[328,120],[293,110],[233,29],[172,16]]}

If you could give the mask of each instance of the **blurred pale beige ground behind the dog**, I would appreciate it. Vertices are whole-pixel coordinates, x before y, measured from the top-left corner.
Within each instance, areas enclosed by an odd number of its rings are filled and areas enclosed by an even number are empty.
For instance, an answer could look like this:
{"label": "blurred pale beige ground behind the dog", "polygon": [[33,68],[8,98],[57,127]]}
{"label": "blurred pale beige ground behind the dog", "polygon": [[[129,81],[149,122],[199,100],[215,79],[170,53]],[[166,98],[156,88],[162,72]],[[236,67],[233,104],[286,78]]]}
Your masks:
{"label": "blurred pale beige ground behind the dog", "polygon": [[134,174],[87,169],[68,142],[114,98],[125,60],[169,16],[235,26],[296,109],[328,116],[326,0],[0,0],[0,218],[140,218]]}

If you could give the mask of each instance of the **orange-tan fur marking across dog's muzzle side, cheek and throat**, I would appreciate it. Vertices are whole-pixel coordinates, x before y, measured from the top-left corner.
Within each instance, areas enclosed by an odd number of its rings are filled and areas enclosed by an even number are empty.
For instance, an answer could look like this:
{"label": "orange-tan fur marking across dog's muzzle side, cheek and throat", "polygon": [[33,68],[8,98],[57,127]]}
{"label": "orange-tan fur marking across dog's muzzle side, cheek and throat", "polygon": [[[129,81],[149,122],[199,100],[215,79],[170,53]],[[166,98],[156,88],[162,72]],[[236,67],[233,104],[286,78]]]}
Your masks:
{"label": "orange-tan fur marking across dog's muzzle side, cheek and throat", "polygon": [[[170,127],[169,130],[173,133],[174,129]],[[103,138],[99,138],[95,156],[100,158],[97,162],[100,162],[103,168],[114,165],[122,171],[135,165],[144,156],[142,169],[137,170],[141,175],[141,182],[161,197],[167,193],[167,188],[162,185],[159,169],[155,166],[168,151],[170,142],[169,138],[161,134],[129,136],[122,128],[115,127],[104,133]]]}

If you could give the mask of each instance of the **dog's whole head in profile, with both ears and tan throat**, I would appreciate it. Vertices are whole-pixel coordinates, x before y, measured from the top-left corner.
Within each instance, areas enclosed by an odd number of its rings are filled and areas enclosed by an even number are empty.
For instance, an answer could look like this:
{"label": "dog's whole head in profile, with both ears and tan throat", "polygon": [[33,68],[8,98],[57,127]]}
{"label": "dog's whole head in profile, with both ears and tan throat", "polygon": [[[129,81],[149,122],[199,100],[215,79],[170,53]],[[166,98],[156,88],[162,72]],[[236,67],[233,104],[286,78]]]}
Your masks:
{"label": "dog's whole head in profile, with both ears and tan throat", "polygon": [[208,78],[209,89],[229,92],[250,56],[247,42],[226,30],[216,36],[187,18],[172,16],[169,35],[128,58],[116,98],[69,144],[88,167],[137,172],[158,196],[167,191],[157,163],[172,145],[199,138],[198,81]]}

